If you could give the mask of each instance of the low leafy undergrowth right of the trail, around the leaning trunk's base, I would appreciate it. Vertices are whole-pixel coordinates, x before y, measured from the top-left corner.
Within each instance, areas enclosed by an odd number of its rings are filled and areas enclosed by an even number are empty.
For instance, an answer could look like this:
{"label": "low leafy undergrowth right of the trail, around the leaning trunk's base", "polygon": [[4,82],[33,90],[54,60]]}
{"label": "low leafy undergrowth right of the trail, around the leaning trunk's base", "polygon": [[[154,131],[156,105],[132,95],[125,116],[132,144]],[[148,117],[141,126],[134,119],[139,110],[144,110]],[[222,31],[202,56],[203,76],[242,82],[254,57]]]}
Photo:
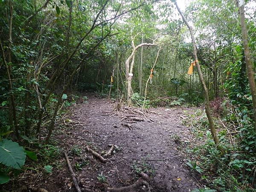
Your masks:
{"label": "low leafy undergrowth right of the trail, around the leaning trunk's base", "polygon": [[[206,114],[199,109],[187,114],[184,125],[191,130],[199,143],[187,148],[190,160],[187,165],[198,172],[212,189],[223,192],[253,192],[256,170],[256,134],[253,121],[246,113],[236,109],[233,113],[222,105],[225,116],[215,116],[215,125],[225,153],[216,148],[209,131]],[[229,106],[233,108],[234,106]],[[229,113],[229,114],[227,114]]]}

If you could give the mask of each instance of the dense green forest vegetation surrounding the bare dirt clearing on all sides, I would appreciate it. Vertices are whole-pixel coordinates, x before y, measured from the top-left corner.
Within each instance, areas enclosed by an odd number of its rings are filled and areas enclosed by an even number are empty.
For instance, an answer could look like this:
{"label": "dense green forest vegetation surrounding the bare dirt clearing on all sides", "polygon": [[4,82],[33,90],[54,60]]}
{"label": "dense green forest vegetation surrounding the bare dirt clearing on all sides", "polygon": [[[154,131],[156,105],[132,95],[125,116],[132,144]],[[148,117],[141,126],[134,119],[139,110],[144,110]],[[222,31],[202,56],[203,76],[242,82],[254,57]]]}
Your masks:
{"label": "dense green forest vegetation surrounding the bare dirt clearing on all sides", "polygon": [[[255,2],[243,2],[255,73]],[[250,192],[256,188],[256,131],[238,10],[231,0],[192,0],[184,12],[194,23],[224,154],[204,113],[195,111],[184,123],[202,143],[189,149],[188,165],[212,189]],[[145,42],[156,45],[134,55],[132,104],[204,108],[199,71],[187,74],[194,61],[189,33],[172,1],[0,0],[0,184],[27,169],[47,173],[59,166],[53,163],[61,149],[51,136],[61,131],[55,125],[69,106],[86,102],[80,93],[125,103],[125,61],[131,44]]]}

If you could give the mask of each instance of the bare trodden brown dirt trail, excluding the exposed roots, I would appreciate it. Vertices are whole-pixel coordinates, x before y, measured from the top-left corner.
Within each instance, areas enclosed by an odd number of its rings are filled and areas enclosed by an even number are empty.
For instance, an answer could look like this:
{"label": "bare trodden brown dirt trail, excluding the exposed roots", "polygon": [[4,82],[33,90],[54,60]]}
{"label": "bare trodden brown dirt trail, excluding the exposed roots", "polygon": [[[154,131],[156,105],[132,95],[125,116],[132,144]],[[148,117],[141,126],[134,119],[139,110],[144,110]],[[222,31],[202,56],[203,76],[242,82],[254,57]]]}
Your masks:
{"label": "bare trodden brown dirt trail, excluding the exposed roots", "polygon": [[[182,152],[183,146],[193,140],[189,128],[181,125],[183,111],[188,108],[151,109],[162,114],[147,113],[144,121],[139,122],[122,120],[122,113],[118,113],[120,116],[106,113],[112,111],[114,105],[106,99],[90,97],[88,102],[72,108],[69,118],[76,128],[70,130],[68,137],[59,136],[68,148],[74,145],[82,148],[82,157],[69,154],[73,166],[87,160],[87,165],[76,172],[81,186],[90,186],[96,191],[104,191],[105,186],[128,186],[143,171],[150,176],[150,190],[148,186],[141,186],[134,191],[189,192],[199,188],[185,166],[187,160]],[[131,128],[124,126],[125,123]],[[100,153],[108,151],[112,144],[118,149],[106,164],[91,158],[85,149],[90,145]]]}

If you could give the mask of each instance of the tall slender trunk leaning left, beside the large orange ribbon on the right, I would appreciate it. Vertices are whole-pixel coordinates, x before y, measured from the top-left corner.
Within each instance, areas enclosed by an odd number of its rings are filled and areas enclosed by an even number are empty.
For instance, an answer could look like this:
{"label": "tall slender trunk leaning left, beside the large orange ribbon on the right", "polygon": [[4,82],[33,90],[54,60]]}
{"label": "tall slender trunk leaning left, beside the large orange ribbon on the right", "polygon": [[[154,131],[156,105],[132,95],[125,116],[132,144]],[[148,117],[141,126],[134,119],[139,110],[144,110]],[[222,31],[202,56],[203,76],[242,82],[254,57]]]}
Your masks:
{"label": "tall slender trunk leaning left, beside the large orange ribbon on the right", "polygon": [[189,28],[189,32],[190,32],[190,35],[191,35],[192,44],[193,44],[193,55],[194,55],[196,67],[197,67],[197,70],[198,70],[198,76],[199,76],[199,79],[201,81],[202,87],[204,89],[205,112],[206,112],[206,115],[207,115],[207,118],[208,118],[208,121],[209,121],[209,127],[210,127],[210,130],[211,130],[211,133],[212,133],[212,138],[214,140],[215,145],[218,147],[218,149],[221,151],[221,153],[224,153],[223,148],[219,144],[218,135],[217,135],[217,132],[216,132],[216,129],[215,129],[215,125],[214,125],[214,122],[213,122],[213,119],[212,119],[212,115],[210,113],[209,93],[208,93],[206,84],[204,82],[204,77],[203,77],[203,74],[201,72],[201,67],[200,67],[200,65],[198,63],[198,57],[197,57],[197,51],[196,51],[196,45],[195,45],[195,38],[194,38],[193,29],[192,29],[192,26],[190,26],[189,23],[187,22],[187,20],[186,20],[185,16],[183,15],[183,13],[180,11],[180,8],[178,7],[176,1],[175,1],[175,6],[177,7],[177,10],[180,13],[183,21],[186,23],[186,26]]}

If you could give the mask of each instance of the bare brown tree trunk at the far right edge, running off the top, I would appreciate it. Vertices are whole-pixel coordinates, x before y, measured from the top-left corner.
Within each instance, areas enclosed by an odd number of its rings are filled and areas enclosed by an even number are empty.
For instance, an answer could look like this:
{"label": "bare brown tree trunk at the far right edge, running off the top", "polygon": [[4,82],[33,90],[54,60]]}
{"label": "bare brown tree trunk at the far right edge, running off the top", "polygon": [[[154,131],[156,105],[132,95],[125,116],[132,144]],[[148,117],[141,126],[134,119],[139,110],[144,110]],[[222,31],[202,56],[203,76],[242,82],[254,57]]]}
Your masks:
{"label": "bare brown tree trunk at the far right edge, running off the top", "polygon": [[245,17],[244,17],[244,0],[240,0],[239,2],[236,2],[236,4],[239,7],[242,39],[244,44],[245,64],[246,64],[247,76],[249,79],[250,90],[251,90],[252,99],[253,99],[254,128],[256,131],[256,86],[255,86],[255,80],[254,80],[253,65],[251,64],[251,60],[250,60],[250,48],[248,45],[248,34],[246,29]]}

